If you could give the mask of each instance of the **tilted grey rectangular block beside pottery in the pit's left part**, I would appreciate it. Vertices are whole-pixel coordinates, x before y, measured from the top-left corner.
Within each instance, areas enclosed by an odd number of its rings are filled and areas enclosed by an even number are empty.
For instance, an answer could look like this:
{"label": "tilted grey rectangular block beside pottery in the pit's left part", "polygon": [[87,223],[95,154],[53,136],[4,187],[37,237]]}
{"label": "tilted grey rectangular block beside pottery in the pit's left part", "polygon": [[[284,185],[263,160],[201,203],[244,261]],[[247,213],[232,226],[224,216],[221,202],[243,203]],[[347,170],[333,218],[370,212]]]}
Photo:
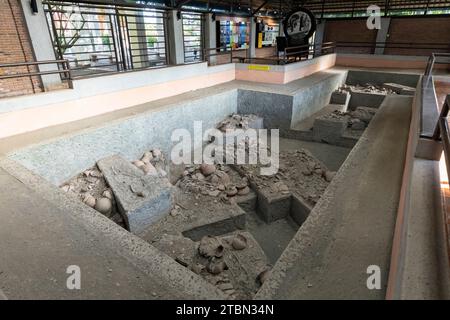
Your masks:
{"label": "tilted grey rectangular block beside pottery in the pit's left part", "polygon": [[168,179],[144,175],[120,155],[97,162],[117,200],[119,212],[130,232],[138,234],[172,208],[172,186]]}

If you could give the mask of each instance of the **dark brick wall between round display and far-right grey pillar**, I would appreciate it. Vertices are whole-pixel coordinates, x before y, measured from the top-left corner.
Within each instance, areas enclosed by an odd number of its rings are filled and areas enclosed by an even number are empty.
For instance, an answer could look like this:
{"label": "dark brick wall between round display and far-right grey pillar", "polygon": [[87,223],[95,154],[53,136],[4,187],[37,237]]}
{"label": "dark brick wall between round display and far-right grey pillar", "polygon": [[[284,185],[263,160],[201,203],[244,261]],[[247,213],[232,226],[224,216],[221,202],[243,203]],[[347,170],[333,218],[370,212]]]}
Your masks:
{"label": "dark brick wall between round display and far-right grey pillar", "polygon": [[[377,30],[367,29],[365,19],[327,20],[323,42],[375,42]],[[338,52],[373,53],[373,48],[338,48]]]}

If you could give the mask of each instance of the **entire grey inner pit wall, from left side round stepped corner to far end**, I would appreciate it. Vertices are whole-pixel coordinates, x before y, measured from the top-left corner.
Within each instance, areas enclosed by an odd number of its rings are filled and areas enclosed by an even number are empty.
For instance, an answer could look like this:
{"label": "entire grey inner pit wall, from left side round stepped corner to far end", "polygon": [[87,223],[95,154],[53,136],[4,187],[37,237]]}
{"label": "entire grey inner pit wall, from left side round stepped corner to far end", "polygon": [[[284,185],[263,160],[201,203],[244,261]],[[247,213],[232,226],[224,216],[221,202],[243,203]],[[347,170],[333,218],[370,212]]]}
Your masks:
{"label": "entire grey inner pit wall, from left side round stepped corner to far end", "polygon": [[417,76],[359,71],[349,71],[347,75],[345,71],[328,70],[286,85],[291,86],[289,90],[280,93],[273,88],[248,85],[201,89],[183,99],[166,99],[156,108],[150,107],[153,102],[143,104],[153,110],[30,146],[9,157],[58,185],[113,154],[132,160],[149,148],[158,147],[167,153],[174,145],[173,130],[187,129],[192,134],[194,121],[202,121],[206,130],[232,113],[252,113],[264,118],[265,128],[280,129],[283,135],[323,108],[346,78],[350,84],[375,79],[377,83],[411,85]]}

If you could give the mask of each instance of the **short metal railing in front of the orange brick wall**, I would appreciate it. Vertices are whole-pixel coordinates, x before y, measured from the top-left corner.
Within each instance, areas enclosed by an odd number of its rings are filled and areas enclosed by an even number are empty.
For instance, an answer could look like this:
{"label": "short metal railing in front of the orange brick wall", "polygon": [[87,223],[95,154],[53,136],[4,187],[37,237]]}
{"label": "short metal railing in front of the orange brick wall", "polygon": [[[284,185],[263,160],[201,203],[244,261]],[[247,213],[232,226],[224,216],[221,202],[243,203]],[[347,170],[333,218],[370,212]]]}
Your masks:
{"label": "short metal railing in front of the orange brick wall", "polygon": [[[0,75],[0,80],[6,79],[15,79],[15,78],[24,78],[24,77],[41,77],[45,75],[53,75],[58,74],[61,77],[62,81],[67,81],[67,84],[70,89],[73,89],[72,83],[72,71],[70,70],[70,64],[68,60],[46,60],[46,61],[33,61],[33,62],[17,62],[17,63],[1,63],[0,69],[14,69],[18,67],[38,67],[40,65],[57,65],[57,70],[48,70],[48,71],[29,71],[27,72],[17,72],[11,74]],[[37,70],[37,68],[36,68]]]}

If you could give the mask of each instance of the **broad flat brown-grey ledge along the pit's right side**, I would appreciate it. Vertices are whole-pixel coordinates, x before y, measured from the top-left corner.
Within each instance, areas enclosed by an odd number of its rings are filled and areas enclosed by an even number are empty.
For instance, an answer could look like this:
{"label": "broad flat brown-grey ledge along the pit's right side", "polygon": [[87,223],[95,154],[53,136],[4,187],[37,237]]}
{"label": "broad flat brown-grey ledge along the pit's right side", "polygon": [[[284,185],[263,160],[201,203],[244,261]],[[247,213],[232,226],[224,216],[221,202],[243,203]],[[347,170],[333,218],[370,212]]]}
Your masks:
{"label": "broad flat brown-grey ledge along the pit's right side", "polygon": [[[411,105],[385,99],[256,299],[384,299]],[[366,287],[369,265],[381,290]]]}

